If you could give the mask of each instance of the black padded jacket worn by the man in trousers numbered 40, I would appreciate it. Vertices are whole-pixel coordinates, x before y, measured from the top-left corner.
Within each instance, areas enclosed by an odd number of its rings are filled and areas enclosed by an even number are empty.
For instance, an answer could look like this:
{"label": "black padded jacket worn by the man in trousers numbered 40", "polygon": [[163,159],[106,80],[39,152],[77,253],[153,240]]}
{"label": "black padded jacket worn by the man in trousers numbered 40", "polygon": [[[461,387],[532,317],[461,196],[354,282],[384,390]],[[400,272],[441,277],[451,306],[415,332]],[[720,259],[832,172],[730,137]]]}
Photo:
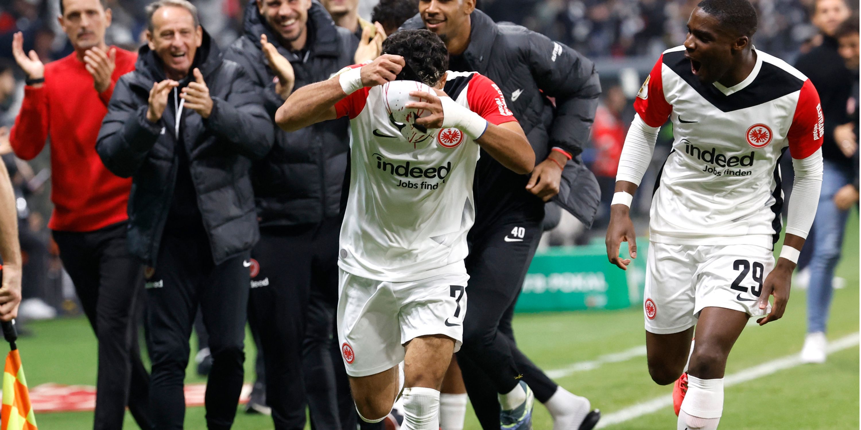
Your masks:
{"label": "black padded jacket worn by the man in trousers numbered 40", "polygon": [[[536,151],[536,161],[547,158],[554,146],[578,156],[589,140],[601,95],[592,61],[527,28],[493,22],[478,9],[470,21],[469,46],[462,60],[469,71],[491,78],[502,89],[505,102]],[[416,15],[401,28],[424,28],[424,23]],[[555,107],[548,96],[555,98]],[[542,201],[524,188],[529,175],[517,175],[485,156],[475,173],[475,228],[512,213],[541,219]],[[566,165],[554,201],[591,225],[600,195],[595,176],[575,157]]]}

